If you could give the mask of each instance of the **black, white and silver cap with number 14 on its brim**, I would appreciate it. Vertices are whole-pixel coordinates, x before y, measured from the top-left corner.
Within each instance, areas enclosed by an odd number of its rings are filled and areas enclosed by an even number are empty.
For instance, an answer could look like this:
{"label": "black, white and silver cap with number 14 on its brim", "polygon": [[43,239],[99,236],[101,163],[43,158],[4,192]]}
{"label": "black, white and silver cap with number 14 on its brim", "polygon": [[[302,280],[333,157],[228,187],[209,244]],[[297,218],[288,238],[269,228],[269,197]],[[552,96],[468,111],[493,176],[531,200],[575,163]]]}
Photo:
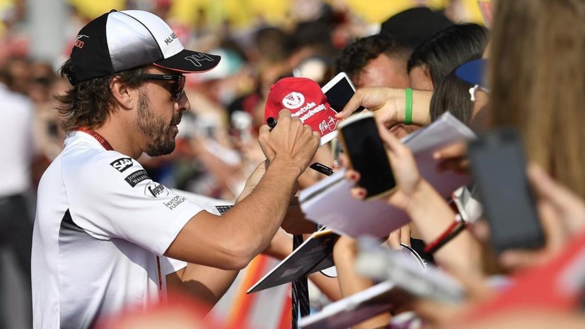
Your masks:
{"label": "black, white and silver cap with number 14 on its brim", "polygon": [[77,37],[71,84],[154,64],[180,73],[205,72],[221,57],[183,47],[170,26],[146,11],[111,11],[87,23]]}

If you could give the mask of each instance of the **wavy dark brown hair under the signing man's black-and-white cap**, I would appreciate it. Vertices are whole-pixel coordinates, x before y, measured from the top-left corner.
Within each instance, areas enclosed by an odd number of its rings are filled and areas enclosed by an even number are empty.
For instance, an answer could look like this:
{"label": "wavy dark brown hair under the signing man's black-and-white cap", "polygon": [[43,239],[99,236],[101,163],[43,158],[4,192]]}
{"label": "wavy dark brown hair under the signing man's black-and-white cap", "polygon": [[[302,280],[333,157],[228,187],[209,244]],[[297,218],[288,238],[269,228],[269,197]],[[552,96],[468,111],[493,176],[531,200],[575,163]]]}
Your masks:
{"label": "wavy dark brown hair under the signing man's black-and-white cap", "polygon": [[[71,60],[60,68],[61,77],[68,77],[74,71]],[[109,88],[112,78],[118,76],[129,88],[137,88],[143,83],[144,67],[116,73],[112,76],[81,81],[63,95],[55,95],[56,109],[62,116],[61,128],[70,132],[80,127],[99,128],[108,118],[110,107],[115,105]]]}

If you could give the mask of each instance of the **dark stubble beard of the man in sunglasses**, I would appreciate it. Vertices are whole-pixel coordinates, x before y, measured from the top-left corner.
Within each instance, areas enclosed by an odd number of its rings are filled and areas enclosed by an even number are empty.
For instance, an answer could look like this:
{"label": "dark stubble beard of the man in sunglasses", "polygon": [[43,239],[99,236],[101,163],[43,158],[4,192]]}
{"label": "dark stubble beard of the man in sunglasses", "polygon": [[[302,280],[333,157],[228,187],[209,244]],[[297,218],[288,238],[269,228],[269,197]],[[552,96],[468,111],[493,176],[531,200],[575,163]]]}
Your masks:
{"label": "dark stubble beard of the man in sunglasses", "polygon": [[[174,121],[176,118],[173,118]],[[173,152],[175,138],[169,133],[171,126],[164,122],[163,118],[154,114],[153,108],[150,106],[150,98],[144,91],[140,91],[136,123],[140,132],[148,139],[143,150],[144,153],[149,156],[160,156]]]}

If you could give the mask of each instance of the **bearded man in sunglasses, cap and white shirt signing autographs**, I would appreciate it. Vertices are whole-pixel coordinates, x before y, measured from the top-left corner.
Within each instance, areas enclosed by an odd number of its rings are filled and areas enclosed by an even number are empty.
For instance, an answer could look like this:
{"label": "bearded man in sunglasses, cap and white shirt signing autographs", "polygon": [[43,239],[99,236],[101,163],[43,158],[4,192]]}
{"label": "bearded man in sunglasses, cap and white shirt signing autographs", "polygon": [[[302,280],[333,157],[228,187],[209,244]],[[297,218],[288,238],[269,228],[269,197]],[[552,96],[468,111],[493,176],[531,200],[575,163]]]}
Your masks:
{"label": "bearded man in sunglasses, cap and white shirt signing autographs", "polygon": [[61,68],[73,85],[59,97],[68,136],[38,189],[35,328],[88,328],[124,306],[166,300],[167,285],[213,303],[269,244],[319,145],[287,110],[275,129],[260,129],[268,161],[222,217],[156,183],[136,161],[174,150],[190,109],[183,73],[219,60],[185,50],[149,12],[112,11],[80,30]]}

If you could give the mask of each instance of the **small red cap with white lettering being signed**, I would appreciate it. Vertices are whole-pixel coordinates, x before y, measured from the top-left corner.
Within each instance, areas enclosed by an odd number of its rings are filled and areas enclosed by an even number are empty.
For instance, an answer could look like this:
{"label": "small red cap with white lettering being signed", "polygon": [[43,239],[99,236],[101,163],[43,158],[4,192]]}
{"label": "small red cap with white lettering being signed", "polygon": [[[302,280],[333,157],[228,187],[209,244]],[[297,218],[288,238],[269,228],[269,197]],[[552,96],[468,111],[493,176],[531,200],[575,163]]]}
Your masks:
{"label": "small red cap with white lettering being signed", "polygon": [[[329,107],[327,97],[315,81],[308,78],[282,78],[270,86],[270,93],[264,107],[264,121],[270,116],[278,118],[278,112],[286,108],[292,116],[311,126],[321,135],[321,145],[335,136],[324,140],[324,136],[336,132],[339,120]],[[333,135],[333,134],[332,134]]]}

